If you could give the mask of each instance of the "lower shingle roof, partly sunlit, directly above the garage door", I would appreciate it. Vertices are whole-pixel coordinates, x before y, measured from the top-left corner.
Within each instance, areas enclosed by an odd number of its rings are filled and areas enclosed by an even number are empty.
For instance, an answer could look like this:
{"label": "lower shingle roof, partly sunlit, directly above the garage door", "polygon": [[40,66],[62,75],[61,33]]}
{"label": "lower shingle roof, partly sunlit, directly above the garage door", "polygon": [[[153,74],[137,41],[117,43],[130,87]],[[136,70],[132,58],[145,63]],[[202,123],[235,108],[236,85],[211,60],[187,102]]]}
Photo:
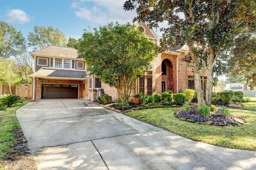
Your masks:
{"label": "lower shingle roof, partly sunlit, directly above the garage door", "polygon": [[29,76],[30,77],[85,79],[86,75],[87,75],[86,71],[60,70],[60,69],[51,69],[51,68],[43,67]]}

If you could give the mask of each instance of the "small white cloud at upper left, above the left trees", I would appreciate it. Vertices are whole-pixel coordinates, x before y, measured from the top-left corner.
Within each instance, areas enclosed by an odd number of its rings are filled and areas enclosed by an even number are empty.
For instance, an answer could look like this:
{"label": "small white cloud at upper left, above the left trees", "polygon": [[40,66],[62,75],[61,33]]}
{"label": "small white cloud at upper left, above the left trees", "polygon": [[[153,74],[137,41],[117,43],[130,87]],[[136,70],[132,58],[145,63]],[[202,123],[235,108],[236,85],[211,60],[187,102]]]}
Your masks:
{"label": "small white cloud at upper left, above the left trees", "polygon": [[6,12],[7,22],[24,24],[32,20],[32,18],[26,14],[25,11],[20,9],[12,9]]}

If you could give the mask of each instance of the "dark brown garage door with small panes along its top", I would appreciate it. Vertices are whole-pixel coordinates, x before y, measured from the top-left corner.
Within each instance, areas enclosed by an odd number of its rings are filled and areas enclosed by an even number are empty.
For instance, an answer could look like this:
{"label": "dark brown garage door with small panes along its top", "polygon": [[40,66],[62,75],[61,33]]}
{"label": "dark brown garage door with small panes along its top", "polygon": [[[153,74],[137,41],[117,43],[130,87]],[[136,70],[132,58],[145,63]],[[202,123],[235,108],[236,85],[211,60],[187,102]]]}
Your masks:
{"label": "dark brown garage door with small panes along its top", "polygon": [[77,84],[42,84],[42,99],[78,98]]}

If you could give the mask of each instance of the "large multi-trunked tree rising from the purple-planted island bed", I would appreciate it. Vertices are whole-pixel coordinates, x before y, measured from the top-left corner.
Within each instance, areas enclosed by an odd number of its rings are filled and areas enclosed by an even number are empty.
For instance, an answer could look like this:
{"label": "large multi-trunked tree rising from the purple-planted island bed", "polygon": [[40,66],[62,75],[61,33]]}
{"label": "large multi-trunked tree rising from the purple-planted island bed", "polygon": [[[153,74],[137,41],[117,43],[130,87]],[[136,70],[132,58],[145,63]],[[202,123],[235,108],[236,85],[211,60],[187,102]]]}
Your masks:
{"label": "large multi-trunked tree rising from the purple-planted island bed", "polygon": [[[125,10],[135,9],[137,17],[134,21],[147,21],[149,27],[159,27],[159,23],[167,22],[168,26],[162,29],[163,50],[188,45],[186,60],[193,66],[198,104],[210,106],[215,64],[221,52],[227,50],[226,45],[234,43],[238,28],[255,27],[255,4],[250,0],[127,0],[123,7]],[[202,61],[207,62],[205,94],[201,86]]]}

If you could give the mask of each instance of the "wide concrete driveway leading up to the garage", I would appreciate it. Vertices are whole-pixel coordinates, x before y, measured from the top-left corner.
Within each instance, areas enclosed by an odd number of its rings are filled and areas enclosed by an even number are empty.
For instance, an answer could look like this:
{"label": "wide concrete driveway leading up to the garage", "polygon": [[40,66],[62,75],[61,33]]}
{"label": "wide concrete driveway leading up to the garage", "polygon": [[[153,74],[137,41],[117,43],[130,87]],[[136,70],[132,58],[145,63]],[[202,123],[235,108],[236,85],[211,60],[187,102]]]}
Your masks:
{"label": "wide concrete driveway leading up to the garage", "polygon": [[38,169],[256,169],[256,152],[195,142],[79,99],[16,113]]}

